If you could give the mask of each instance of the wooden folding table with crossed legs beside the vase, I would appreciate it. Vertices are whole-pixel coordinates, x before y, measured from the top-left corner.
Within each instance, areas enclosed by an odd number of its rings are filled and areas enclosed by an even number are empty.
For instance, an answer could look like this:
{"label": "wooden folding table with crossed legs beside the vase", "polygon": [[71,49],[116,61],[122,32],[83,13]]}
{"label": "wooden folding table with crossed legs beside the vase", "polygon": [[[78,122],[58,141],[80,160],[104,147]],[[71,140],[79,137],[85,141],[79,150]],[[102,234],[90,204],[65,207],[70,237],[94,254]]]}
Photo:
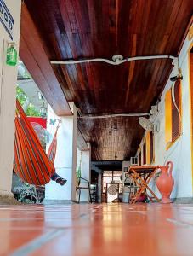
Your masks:
{"label": "wooden folding table with crossed legs beside the vase", "polygon": [[[149,183],[150,179],[156,174],[156,171],[161,166],[130,166],[128,170],[128,176],[137,184],[139,189],[130,199],[130,203],[134,204],[142,193],[145,193],[151,202],[160,201],[160,199],[155,195],[155,193],[150,189]],[[149,190],[150,195],[148,195],[147,190]]]}

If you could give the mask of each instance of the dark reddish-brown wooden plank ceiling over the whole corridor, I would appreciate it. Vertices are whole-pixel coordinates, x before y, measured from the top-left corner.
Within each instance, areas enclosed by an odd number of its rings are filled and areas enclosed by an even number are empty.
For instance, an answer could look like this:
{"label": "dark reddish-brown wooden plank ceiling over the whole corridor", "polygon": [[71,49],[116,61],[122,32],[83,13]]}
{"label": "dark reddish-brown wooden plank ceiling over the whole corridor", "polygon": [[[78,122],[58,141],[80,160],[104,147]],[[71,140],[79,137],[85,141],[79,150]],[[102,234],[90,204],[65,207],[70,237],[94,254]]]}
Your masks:
{"label": "dark reddish-brown wooden plank ceiling over the whole corridor", "polygon": [[[193,10],[192,0],[25,3],[50,61],[111,59],[115,54],[177,56]],[[31,26],[28,29],[30,32]],[[25,38],[22,26],[21,33]],[[30,40],[30,33],[25,40]],[[146,113],[160,96],[172,64],[156,60],[116,67],[88,63],[53,68],[67,101],[74,101],[83,114]],[[78,126],[91,142],[93,160],[127,160],[135,154],[144,133],[133,117],[79,119]]]}

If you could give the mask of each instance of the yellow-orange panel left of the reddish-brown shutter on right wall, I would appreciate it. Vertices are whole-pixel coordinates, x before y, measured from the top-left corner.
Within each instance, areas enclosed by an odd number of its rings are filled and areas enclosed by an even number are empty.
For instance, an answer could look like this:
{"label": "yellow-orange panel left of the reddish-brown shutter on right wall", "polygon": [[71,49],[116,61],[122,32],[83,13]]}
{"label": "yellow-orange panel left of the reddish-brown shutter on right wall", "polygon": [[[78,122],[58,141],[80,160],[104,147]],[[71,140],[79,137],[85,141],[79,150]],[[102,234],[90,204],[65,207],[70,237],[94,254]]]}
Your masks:
{"label": "yellow-orange panel left of the reddish-brown shutter on right wall", "polygon": [[172,142],[172,90],[167,90],[165,96],[165,139]]}

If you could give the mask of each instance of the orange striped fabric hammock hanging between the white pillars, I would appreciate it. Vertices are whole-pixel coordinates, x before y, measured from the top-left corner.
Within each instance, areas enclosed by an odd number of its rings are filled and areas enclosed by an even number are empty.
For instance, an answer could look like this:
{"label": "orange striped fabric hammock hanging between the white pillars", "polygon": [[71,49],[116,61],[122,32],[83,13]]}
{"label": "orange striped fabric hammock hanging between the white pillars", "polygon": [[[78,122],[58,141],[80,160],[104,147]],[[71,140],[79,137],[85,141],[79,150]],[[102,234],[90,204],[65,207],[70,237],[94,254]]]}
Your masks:
{"label": "orange striped fabric hammock hanging between the white pillars", "polygon": [[56,129],[48,155],[45,153],[36,132],[26,117],[20,103],[16,102],[14,138],[14,172],[26,183],[44,185],[55,172]]}

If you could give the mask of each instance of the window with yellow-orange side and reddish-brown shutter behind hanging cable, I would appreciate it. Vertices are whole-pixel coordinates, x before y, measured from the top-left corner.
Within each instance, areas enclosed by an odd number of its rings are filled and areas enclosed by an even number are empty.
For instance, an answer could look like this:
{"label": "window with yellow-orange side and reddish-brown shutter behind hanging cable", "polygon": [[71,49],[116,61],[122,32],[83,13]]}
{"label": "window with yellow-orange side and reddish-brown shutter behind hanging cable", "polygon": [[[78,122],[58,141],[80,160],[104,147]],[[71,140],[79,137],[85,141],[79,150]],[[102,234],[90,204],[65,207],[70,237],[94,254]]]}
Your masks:
{"label": "window with yellow-orange side and reddish-brown shutter behind hanging cable", "polygon": [[[172,89],[167,90],[165,96],[165,135],[167,147],[170,146],[181,134],[181,85],[180,80],[174,85],[173,102]],[[176,108],[177,107],[177,108]]]}

